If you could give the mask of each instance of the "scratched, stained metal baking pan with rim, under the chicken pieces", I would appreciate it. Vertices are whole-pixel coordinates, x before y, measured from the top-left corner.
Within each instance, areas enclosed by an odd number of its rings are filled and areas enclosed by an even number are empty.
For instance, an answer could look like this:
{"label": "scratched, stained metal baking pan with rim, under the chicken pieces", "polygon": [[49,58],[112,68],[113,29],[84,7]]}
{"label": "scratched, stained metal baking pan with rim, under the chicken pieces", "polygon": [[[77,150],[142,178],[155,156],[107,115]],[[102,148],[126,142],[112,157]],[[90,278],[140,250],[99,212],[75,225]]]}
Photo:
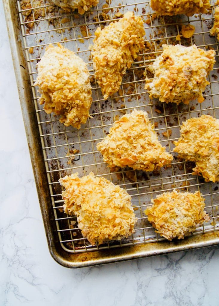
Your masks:
{"label": "scratched, stained metal baking pan with rim, under the chicken pieces", "polygon": [[[44,0],[4,0],[13,62],[19,89],[21,108],[30,148],[36,186],[46,230],[49,250],[53,258],[66,267],[84,267],[115,261],[176,252],[219,243],[219,192],[218,183],[206,183],[202,177],[192,175],[192,162],[177,159],[172,151],[173,141],[179,138],[179,127],[188,118],[209,114],[219,118],[218,100],[218,45],[216,37],[210,37],[213,25],[214,3],[207,15],[192,17],[159,17],[154,14],[149,2],[111,0],[93,7],[81,16],[76,11],[66,13]],[[104,100],[94,78],[90,53],[94,32],[112,20],[118,20],[127,11],[134,12],[144,20],[145,48],[140,50],[126,75],[119,91]],[[183,24],[194,25],[191,38],[176,37]],[[177,36],[178,35],[178,36]],[[33,84],[37,76],[36,64],[49,44],[61,43],[73,50],[88,66],[92,84],[92,118],[81,129],[65,127],[59,117],[46,114],[38,103],[38,88]],[[160,103],[149,99],[144,89],[145,71],[154,58],[162,52],[162,44],[196,44],[205,50],[216,51],[216,63],[209,76],[210,84],[204,92],[205,101],[192,101],[189,105]],[[134,108],[145,110],[155,123],[158,138],[174,159],[170,167],[156,172],[141,172],[121,169],[110,171],[103,162],[96,143],[103,139],[113,122]],[[135,233],[128,239],[92,246],[82,237],[76,217],[62,210],[62,187],[59,178],[78,172],[103,176],[125,188],[132,196],[134,212],[138,217]],[[164,191],[202,192],[210,222],[181,241],[166,241],[154,232],[144,214],[151,199]]]}

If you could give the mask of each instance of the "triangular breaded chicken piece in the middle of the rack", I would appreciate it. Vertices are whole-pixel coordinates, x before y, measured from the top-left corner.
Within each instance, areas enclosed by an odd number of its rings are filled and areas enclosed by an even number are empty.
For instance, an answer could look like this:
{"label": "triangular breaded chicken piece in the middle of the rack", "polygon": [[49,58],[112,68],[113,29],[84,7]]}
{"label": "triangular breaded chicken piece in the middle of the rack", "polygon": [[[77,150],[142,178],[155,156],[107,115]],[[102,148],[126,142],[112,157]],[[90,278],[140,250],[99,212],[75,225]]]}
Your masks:
{"label": "triangular breaded chicken piece in the middle of the rack", "polygon": [[134,110],[115,121],[109,134],[96,147],[110,168],[129,166],[153,171],[173,159],[159,143],[148,114],[140,110]]}

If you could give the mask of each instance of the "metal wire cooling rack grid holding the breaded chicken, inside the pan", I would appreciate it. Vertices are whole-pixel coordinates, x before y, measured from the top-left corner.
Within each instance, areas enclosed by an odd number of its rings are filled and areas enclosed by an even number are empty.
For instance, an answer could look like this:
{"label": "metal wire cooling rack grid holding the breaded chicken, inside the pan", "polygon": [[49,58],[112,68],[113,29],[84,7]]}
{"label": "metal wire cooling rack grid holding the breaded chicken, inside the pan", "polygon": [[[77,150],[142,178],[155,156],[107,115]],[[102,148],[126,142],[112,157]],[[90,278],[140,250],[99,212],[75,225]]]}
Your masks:
{"label": "metal wire cooling rack grid holding the breaded chicken, inside the pan", "polygon": [[[151,199],[157,194],[163,191],[172,191],[173,188],[190,192],[200,190],[206,199],[206,211],[211,220],[198,228],[194,234],[217,230],[219,228],[217,183],[206,183],[201,177],[191,175],[194,165],[191,162],[178,160],[172,151],[173,141],[179,138],[179,127],[182,121],[201,114],[210,114],[219,118],[217,82],[219,53],[215,37],[209,37],[209,28],[213,24],[214,5],[212,5],[212,14],[205,15],[204,18],[203,15],[195,15],[193,17],[160,17],[159,20],[153,20],[154,15],[149,2],[137,2],[136,0],[130,4],[124,3],[123,0],[120,3],[112,0],[108,3],[108,8],[102,7],[104,3],[100,2],[92,9],[92,13],[86,13],[84,16],[78,16],[75,12],[63,13],[58,7],[51,13],[48,10],[50,4],[45,3],[44,0],[40,0],[40,2],[30,0],[30,4],[32,20],[28,21],[25,20],[25,15],[28,10],[30,11],[30,7],[24,9],[21,7],[21,2],[17,1],[51,200],[62,247],[68,252],[86,252],[163,240],[154,233],[153,227],[147,221],[143,211],[151,204]],[[37,20],[35,14],[39,12],[39,9],[43,13],[42,17]],[[94,78],[89,46],[98,26],[105,26],[112,20],[117,20],[116,12],[123,14],[128,10],[134,11],[136,15],[144,19],[145,46],[150,45],[149,50],[141,50],[137,60],[124,76],[119,92],[105,101]],[[104,13],[108,16],[107,21],[103,20]],[[194,24],[196,28],[194,36],[191,39],[182,38],[179,43],[183,45],[196,43],[198,47],[205,49],[214,48],[217,53],[216,64],[209,76],[210,85],[204,94],[205,101],[202,104],[192,101],[189,106],[181,105],[182,103],[177,106],[150,100],[144,90],[143,72],[162,52],[161,43],[176,43],[176,35],[180,34],[181,24],[187,23]],[[32,24],[32,28],[30,28],[30,24]],[[83,35],[81,35],[82,33]],[[90,114],[93,118],[89,118],[80,130],[60,124],[57,117],[46,114],[43,107],[37,103],[39,94],[37,88],[33,86],[37,75],[36,63],[43,55],[45,46],[58,42],[83,58],[91,75],[93,105]],[[113,121],[124,113],[130,113],[134,108],[146,110],[149,113],[149,117],[155,123],[160,142],[174,156],[170,167],[162,168],[153,173],[132,169],[121,169],[111,173],[102,161],[95,143],[106,136]],[[164,134],[165,136],[162,134],[163,132],[167,132]],[[125,188],[132,196],[138,222],[135,227],[136,233],[131,238],[100,246],[91,246],[82,237],[77,227],[76,217],[67,216],[62,212],[62,188],[58,183],[59,177],[74,172],[78,172],[82,176],[90,171],[93,171],[96,176],[104,176]]]}

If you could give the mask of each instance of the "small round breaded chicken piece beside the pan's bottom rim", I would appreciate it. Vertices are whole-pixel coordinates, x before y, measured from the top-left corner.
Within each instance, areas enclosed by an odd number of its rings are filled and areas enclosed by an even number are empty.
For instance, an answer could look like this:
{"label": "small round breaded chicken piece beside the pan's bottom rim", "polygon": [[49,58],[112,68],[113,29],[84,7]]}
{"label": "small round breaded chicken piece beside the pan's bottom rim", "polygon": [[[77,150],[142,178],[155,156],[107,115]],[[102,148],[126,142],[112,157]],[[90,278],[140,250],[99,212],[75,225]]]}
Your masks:
{"label": "small round breaded chicken piece beside the pan's bottom rim", "polygon": [[153,206],[145,209],[145,215],[160,236],[170,241],[176,237],[184,239],[186,234],[210,220],[204,211],[204,200],[199,191],[177,192],[173,189],[152,199]]}

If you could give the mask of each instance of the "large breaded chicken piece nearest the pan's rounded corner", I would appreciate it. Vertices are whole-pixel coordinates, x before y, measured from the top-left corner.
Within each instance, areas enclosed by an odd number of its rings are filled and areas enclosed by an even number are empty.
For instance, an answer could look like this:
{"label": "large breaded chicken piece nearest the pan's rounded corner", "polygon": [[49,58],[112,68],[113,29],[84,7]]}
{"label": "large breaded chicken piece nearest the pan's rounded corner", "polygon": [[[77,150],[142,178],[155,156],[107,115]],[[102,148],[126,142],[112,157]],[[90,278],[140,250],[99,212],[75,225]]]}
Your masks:
{"label": "large breaded chicken piece nearest the pan's rounded corner", "polygon": [[76,215],[83,237],[94,245],[108,240],[127,238],[135,232],[137,221],[131,207],[130,195],[105,179],[89,175],[79,178],[78,173],[59,179],[64,211]]}

